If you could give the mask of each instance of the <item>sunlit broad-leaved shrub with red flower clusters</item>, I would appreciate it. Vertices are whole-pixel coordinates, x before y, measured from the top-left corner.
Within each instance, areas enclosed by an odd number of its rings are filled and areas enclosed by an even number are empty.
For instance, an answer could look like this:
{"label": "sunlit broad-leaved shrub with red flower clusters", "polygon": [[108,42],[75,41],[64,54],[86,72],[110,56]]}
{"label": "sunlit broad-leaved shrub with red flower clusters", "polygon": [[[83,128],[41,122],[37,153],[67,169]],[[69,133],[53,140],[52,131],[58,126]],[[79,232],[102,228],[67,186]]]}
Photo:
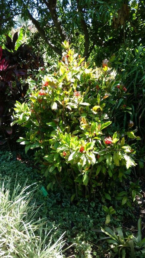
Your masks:
{"label": "sunlit broad-leaved shrub with red flower clusters", "polygon": [[95,198],[98,191],[105,202],[111,200],[112,189],[115,195],[116,182],[122,183],[136,165],[134,146],[140,138],[134,131],[113,132],[111,127],[111,106],[119,97],[125,98],[123,86],[106,68],[102,74],[98,68],[89,68],[68,42],[63,47],[62,61],[53,74],[43,77],[41,89],[33,90],[27,103],[16,102],[12,125],[27,128],[26,138],[18,142],[26,145],[26,152],[37,149],[36,162],[41,162],[42,173],[49,177],[47,189],[53,189],[55,182],[65,195],[64,186],[75,188],[71,201]]}

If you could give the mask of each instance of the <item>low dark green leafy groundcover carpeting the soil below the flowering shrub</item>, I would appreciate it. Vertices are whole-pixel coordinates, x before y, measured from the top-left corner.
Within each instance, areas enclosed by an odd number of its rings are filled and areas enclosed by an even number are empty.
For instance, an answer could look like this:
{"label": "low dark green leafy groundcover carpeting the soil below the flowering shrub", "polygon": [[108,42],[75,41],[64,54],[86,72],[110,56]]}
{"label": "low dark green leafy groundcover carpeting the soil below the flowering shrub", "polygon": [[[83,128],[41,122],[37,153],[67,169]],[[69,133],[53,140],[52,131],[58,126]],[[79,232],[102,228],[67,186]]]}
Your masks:
{"label": "low dark green leafy groundcover carpeting the soil below the flowering shrub", "polygon": [[[69,202],[64,197],[61,189],[55,185],[53,192],[47,190],[48,195],[44,197],[40,189],[42,186],[44,186],[45,189],[47,188],[47,179],[44,179],[43,176],[37,172],[36,168],[32,168],[32,164],[34,164],[32,151],[29,151],[27,155],[21,150],[19,150],[19,154],[9,151],[0,152],[0,176],[1,178],[6,177],[5,182],[8,182],[10,179],[10,195],[16,187],[18,190],[20,189],[20,191],[18,191],[19,195],[27,178],[27,186],[34,184],[25,190],[26,192],[33,191],[33,198],[30,203],[27,204],[27,209],[30,210],[30,207],[33,205],[34,208],[39,207],[38,212],[34,210],[34,222],[39,220],[39,218],[43,218],[43,221],[47,221],[48,232],[52,229],[50,233],[52,234],[52,243],[55,243],[65,231],[64,239],[67,239],[67,243],[69,245],[75,243],[75,245],[72,246],[72,251],[70,250],[68,254],[66,252],[64,257],[75,254],[76,258],[104,258],[105,254],[108,252],[110,255],[113,255],[110,247],[107,246],[106,239],[100,241],[100,238],[105,237],[104,234],[96,231],[96,229],[100,229],[100,227],[105,227],[106,220],[106,212],[99,200],[96,200],[96,204],[93,201],[89,204],[87,199],[82,199],[76,205],[75,203]],[[67,194],[71,196],[69,189],[67,190]],[[27,198],[29,199],[28,195]],[[135,219],[133,208],[126,209],[116,205],[115,211],[115,214],[110,215],[111,221],[109,226],[114,225],[115,227],[120,227],[124,216],[126,218],[131,217]],[[20,216],[24,216],[24,214],[20,214]],[[39,232],[36,232],[39,236]],[[67,246],[64,247],[66,248]],[[93,253],[95,254],[94,256]]]}

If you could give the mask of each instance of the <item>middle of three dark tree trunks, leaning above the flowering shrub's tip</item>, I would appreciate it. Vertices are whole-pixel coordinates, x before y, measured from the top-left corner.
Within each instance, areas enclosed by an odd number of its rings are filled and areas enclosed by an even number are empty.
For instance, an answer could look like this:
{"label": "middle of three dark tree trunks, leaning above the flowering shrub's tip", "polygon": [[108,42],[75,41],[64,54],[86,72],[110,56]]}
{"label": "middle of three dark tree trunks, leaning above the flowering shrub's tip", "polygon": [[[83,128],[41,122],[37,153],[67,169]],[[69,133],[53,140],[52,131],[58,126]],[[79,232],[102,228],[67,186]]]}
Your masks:
{"label": "middle of three dark tree trunks, leaning above the flowering shrub's tip", "polygon": [[62,39],[62,41],[69,41],[69,37],[66,33],[66,31],[64,30],[63,26],[61,25],[61,22],[57,16],[57,13],[56,13],[56,0],[42,0],[42,2],[47,6],[47,8],[49,9],[50,11],[50,14],[51,14],[51,18],[54,22],[54,25],[57,29],[57,31],[59,32],[60,34],[60,37]]}

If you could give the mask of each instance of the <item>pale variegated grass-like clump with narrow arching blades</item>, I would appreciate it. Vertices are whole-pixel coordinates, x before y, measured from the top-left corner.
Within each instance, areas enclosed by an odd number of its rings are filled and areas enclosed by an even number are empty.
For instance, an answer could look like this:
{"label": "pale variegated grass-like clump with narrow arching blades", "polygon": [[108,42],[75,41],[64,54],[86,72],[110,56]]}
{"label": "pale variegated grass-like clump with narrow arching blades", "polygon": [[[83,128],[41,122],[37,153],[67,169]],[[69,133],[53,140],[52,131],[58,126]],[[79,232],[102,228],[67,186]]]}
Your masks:
{"label": "pale variegated grass-like clump with narrow arching blades", "polygon": [[47,224],[34,219],[40,208],[32,204],[36,190],[29,191],[26,181],[22,188],[14,185],[10,193],[10,182],[10,178],[0,181],[0,257],[63,257],[63,235],[52,242]]}

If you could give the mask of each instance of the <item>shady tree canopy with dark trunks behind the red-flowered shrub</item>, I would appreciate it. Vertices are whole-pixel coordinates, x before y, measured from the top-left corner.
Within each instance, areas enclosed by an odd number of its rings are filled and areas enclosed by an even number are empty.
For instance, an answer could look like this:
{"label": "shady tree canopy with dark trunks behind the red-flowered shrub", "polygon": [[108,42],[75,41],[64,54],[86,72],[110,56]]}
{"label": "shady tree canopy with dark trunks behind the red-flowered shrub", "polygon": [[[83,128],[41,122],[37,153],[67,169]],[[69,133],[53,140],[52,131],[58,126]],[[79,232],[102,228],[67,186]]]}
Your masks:
{"label": "shady tree canopy with dark trunks behind the red-flowered shrub", "polygon": [[112,53],[121,45],[145,41],[143,0],[2,0],[0,10],[1,35],[8,33],[21,14],[37,28],[36,38],[60,56],[64,40],[86,59],[102,47]]}

